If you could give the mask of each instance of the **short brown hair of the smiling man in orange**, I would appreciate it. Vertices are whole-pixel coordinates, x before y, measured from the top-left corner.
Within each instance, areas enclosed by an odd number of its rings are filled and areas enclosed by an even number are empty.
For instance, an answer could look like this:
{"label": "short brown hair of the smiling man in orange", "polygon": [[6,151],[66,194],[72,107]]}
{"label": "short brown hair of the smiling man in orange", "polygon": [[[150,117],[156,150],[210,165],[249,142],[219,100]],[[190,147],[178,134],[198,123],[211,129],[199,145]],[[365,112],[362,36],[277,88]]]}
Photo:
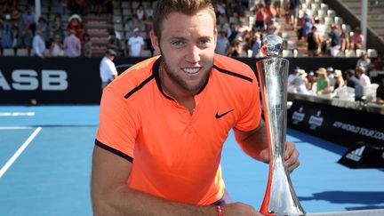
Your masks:
{"label": "short brown hair of the smiling man in orange", "polygon": [[172,12],[194,15],[196,12],[208,9],[212,15],[213,25],[216,25],[216,14],[211,0],[159,0],[153,13],[155,35],[160,39],[163,20]]}

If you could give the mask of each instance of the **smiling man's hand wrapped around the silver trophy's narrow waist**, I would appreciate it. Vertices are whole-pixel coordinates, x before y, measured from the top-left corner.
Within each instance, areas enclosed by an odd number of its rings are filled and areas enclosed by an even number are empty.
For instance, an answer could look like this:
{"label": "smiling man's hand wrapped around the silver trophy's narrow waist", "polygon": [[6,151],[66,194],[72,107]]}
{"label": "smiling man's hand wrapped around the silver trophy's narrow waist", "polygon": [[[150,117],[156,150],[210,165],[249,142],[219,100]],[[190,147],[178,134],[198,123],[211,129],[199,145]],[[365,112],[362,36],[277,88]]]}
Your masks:
{"label": "smiling man's hand wrapped around the silver trophy's narrow waist", "polygon": [[[269,163],[268,148],[265,148],[260,152],[260,158],[263,162]],[[299,151],[296,149],[293,142],[286,142],[284,149],[284,166],[289,172],[293,172],[293,170],[296,169],[299,165]]]}

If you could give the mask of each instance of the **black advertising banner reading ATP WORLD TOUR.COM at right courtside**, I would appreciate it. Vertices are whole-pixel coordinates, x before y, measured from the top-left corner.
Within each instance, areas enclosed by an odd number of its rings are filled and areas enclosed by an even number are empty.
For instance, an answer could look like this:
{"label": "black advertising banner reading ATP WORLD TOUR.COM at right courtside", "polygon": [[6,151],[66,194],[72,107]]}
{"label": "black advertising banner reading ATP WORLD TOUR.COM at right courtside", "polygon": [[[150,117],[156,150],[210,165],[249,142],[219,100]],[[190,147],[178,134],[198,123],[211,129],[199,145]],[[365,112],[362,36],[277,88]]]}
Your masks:
{"label": "black advertising banner reading ATP WORLD TOUR.COM at right courtside", "polygon": [[289,128],[346,147],[356,142],[384,147],[384,115],[307,100],[293,100],[287,118]]}

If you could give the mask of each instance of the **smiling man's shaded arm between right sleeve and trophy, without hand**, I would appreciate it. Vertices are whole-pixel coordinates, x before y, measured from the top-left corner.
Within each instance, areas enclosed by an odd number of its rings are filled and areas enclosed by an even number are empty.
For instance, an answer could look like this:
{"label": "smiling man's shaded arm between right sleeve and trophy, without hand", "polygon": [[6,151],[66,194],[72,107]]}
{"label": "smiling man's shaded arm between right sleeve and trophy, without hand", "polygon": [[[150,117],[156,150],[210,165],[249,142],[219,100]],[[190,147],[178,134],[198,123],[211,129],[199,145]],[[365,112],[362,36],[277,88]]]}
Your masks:
{"label": "smiling man's shaded arm between right sleeve and trophy, without hand", "polygon": [[262,119],[260,120],[259,127],[252,132],[239,132],[236,129],[234,130],[237,143],[248,156],[268,163],[268,161],[264,161],[260,156],[261,151],[268,149],[267,131]]}

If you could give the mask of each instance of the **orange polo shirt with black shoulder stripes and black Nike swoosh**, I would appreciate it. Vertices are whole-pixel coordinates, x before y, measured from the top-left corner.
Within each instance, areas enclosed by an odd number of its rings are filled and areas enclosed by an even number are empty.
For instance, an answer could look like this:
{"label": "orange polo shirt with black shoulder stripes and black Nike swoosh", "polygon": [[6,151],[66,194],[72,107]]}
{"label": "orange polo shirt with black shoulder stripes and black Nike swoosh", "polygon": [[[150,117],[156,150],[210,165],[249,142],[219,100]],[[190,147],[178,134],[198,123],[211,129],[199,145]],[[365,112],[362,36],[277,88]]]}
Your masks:
{"label": "orange polo shirt with black shoulder stripes and black Nike swoosh", "polygon": [[154,57],[132,66],[104,89],[96,145],[132,162],[127,185],[187,204],[212,204],[224,194],[220,156],[231,128],[260,122],[259,87],[249,66],[215,55],[196,109],[164,94]]}

